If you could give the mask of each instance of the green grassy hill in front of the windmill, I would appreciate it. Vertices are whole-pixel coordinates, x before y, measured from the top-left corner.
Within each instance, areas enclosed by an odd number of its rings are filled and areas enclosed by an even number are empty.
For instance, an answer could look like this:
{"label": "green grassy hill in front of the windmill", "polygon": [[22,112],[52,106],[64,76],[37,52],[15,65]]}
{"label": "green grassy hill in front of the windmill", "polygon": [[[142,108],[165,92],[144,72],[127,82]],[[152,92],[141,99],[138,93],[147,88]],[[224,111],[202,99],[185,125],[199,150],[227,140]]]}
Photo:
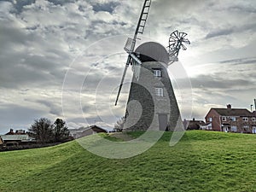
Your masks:
{"label": "green grassy hill in front of the windmill", "polygon": [[187,131],[170,147],[171,134],[125,160],[90,154],[75,141],[3,152],[0,191],[256,191],[256,136]]}

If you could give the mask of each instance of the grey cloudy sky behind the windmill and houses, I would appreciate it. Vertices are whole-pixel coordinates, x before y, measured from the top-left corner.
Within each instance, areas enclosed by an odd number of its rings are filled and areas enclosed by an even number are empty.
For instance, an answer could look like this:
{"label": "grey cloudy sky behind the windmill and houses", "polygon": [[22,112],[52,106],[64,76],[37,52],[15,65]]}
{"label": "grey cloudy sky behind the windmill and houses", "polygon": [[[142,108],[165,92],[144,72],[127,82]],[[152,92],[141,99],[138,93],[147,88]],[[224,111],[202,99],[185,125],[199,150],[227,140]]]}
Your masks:
{"label": "grey cloudy sky behind the windmill and houses", "polygon": [[[118,120],[129,90],[127,83],[114,107],[123,46],[142,5],[143,0],[1,0],[0,134],[27,129],[41,117],[65,119],[70,128]],[[174,83],[183,118],[191,118],[186,97],[196,119],[228,103],[250,109],[256,97],[256,2],[153,0],[138,44],[154,39],[167,46],[176,29],[191,42],[174,64],[183,66],[192,84],[190,89]]]}

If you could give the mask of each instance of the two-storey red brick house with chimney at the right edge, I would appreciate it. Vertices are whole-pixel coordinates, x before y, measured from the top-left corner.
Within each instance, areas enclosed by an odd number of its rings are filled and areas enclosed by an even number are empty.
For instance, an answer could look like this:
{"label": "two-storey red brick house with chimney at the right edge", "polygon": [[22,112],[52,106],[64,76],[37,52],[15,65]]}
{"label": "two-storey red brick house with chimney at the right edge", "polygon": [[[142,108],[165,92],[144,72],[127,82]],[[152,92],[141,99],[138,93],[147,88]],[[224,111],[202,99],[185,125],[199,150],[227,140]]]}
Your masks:
{"label": "two-storey red brick house with chimney at the right edge", "polygon": [[256,113],[246,108],[211,108],[206,123],[212,123],[212,131],[256,133]]}

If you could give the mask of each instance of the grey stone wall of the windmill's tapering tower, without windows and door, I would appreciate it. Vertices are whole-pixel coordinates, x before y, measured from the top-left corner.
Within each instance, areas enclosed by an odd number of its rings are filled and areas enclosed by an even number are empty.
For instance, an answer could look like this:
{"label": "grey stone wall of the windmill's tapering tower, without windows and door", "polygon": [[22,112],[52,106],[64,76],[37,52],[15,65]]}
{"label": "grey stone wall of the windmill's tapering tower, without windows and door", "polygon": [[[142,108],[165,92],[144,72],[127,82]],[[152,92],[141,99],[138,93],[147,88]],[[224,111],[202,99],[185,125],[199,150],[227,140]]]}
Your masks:
{"label": "grey stone wall of the windmill's tapering tower, without windows and door", "polygon": [[[154,77],[154,68],[161,69],[161,77]],[[164,89],[164,97],[156,96],[155,87]],[[143,62],[140,78],[132,79],[124,129],[159,130],[159,113],[167,114],[167,130],[173,131],[179,122],[180,112],[166,64],[158,61]]]}

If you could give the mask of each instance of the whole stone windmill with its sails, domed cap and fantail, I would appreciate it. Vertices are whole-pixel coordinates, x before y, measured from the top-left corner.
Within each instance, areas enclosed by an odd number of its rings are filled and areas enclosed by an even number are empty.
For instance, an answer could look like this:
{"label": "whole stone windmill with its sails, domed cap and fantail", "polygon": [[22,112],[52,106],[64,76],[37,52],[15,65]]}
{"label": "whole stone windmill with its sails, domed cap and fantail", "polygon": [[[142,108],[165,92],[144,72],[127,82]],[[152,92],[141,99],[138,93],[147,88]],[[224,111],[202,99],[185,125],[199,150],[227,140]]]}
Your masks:
{"label": "whole stone windmill with its sails, domed cap and fantail", "polygon": [[[132,66],[133,77],[125,112],[125,131],[148,130],[173,131],[183,126],[167,67],[177,61],[183,43],[190,44],[184,32],[172,32],[169,50],[155,42],[141,44],[135,49],[137,34],[143,33],[151,1],[145,0],[134,38],[128,38],[125,51],[129,54],[119,86],[122,88],[125,73]],[[135,49],[135,50],[134,50]]]}

